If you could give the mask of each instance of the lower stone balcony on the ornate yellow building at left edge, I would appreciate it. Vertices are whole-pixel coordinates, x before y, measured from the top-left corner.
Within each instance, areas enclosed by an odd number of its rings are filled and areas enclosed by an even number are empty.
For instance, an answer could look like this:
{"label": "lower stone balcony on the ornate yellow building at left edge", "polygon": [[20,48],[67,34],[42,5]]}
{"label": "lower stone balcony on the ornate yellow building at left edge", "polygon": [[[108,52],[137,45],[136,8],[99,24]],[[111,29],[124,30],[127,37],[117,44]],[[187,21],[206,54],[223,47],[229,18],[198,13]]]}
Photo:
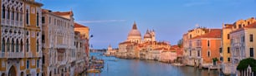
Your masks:
{"label": "lower stone balcony on the ornate yellow building at left edge", "polygon": [[24,53],[22,52],[2,52],[0,53],[0,58],[24,58]]}

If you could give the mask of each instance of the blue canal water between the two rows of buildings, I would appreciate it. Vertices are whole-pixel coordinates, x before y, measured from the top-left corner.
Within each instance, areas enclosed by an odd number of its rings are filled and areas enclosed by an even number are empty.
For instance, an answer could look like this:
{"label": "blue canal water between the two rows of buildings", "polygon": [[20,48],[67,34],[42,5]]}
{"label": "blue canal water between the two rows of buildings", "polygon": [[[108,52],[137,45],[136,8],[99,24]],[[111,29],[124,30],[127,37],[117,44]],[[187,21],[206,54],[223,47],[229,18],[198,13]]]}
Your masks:
{"label": "blue canal water between the two rows of buildings", "polygon": [[[105,67],[100,74],[89,76],[218,76],[218,70],[195,69],[189,66],[173,66],[153,60],[118,59],[91,53],[98,59],[105,59]],[[118,59],[115,61],[115,59]]]}

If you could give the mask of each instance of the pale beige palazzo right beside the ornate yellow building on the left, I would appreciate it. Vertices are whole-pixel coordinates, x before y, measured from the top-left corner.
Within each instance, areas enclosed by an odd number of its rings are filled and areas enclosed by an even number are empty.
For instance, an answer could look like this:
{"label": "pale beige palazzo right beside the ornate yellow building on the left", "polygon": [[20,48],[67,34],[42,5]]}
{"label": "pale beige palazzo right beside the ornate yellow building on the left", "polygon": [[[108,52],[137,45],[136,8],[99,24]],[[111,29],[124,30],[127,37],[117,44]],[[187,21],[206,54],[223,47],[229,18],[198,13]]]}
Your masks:
{"label": "pale beige palazzo right beside the ornate yellow building on the left", "polygon": [[44,75],[74,75],[76,47],[74,45],[73,12],[43,10],[42,43]]}

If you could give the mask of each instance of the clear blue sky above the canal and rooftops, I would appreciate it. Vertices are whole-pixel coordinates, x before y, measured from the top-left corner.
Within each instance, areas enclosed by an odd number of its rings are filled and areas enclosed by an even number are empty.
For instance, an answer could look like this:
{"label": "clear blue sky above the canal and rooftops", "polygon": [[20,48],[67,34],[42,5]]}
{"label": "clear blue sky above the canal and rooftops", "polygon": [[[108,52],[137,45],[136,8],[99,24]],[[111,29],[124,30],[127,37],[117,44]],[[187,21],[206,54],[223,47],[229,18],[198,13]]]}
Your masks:
{"label": "clear blue sky above the canal and rooftops", "polygon": [[142,37],[176,45],[196,25],[222,28],[223,23],[256,17],[256,0],[36,0],[53,12],[74,12],[74,21],[90,27],[94,49],[117,48],[136,21]]}

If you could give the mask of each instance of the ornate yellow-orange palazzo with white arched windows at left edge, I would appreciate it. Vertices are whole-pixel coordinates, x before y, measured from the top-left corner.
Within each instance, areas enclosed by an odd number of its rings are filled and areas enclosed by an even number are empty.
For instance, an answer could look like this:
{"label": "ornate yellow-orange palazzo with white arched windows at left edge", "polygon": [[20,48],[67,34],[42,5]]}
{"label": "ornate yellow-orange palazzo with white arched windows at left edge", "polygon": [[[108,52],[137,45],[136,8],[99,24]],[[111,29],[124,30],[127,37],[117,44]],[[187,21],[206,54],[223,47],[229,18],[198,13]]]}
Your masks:
{"label": "ornate yellow-orange palazzo with white arched windows at left edge", "polygon": [[1,76],[41,76],[42,3],[1,0]]}

